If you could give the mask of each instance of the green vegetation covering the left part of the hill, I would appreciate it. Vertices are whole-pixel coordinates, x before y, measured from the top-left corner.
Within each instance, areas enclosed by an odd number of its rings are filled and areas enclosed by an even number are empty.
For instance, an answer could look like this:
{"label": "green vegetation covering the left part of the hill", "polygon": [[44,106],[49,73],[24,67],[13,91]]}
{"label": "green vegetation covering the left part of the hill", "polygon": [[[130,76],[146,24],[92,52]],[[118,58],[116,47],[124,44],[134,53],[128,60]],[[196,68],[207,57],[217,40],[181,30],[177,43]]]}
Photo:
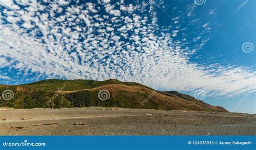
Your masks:
{"label": "green vegetation covering the left part of the hill", "polygon": [[[0,87],[0,94],[6,89],[10,89],[14,92],[14,99],[11,101],[4,101],[1,99],[0,106],[16,109],[52,108],[52,103],[54,102],[54,108],[60,108],[62,101],[63,108],[84,106],[125,106],[123,103],[118,103],[119,99],[115,99],[116,101],[114,102],[100,101],[98,98],[99,91],[78,91],[70,94],[63,94],[63,96],[58,93],[58,91],[62,90],[84,90],[107,84],[144,86],[135,82],[121,82],[113,79],[106,81],[51,79],[22,85],[3,85],[3,87]],[[49,100],[52,97],[54,97],[53,100]],[[132,104],[129,105],[132,107]]]}

